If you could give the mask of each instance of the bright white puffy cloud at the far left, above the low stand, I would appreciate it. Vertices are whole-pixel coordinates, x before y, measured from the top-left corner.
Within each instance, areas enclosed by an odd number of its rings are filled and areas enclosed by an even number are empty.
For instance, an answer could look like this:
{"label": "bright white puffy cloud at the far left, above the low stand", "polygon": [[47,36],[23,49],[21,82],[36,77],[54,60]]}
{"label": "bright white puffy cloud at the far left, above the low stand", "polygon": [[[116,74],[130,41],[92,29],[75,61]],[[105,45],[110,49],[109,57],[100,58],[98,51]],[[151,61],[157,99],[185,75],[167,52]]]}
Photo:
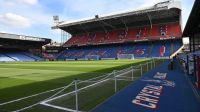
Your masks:
{"label": "bright white puffy cloud at the far left, above the low stand", "polygon": [[27,28],[31,26],[31,21],[28,18],[13,13],[0,15],[0,23],[18,28]]}

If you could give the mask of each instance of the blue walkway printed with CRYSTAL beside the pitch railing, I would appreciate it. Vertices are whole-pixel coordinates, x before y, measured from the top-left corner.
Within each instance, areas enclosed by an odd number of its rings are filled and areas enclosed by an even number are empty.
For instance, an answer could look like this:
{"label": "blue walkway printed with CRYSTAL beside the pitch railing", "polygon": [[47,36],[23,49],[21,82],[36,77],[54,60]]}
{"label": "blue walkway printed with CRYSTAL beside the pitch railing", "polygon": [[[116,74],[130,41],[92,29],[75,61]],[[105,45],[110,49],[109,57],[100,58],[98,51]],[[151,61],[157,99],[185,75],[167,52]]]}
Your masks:
{"label": "blue walkway printed with CRYSTAL beside the pitch railing", "polygon": [[200,112],[200,102],[178,63],[173,71],[168,64],[146,73],[92,112]]}

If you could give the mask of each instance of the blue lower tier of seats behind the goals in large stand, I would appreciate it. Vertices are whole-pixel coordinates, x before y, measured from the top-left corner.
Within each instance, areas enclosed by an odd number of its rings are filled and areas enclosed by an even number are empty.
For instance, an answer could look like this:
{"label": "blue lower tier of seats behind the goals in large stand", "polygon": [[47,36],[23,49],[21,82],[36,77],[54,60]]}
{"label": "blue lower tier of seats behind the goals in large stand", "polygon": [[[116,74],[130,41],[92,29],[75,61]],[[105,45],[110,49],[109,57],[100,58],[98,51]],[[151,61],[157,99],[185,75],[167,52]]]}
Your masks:
{"label": "blue lower tier of seats behind the goals in large stand", "polygon": [[[85,59],[88,55],[117,58],[118,54],[134,54],[135,58],[169,57],[182,46],[181,40],[71,48],[59,54],[58,59]],[[172,48],[173,47],[173,48]]]}

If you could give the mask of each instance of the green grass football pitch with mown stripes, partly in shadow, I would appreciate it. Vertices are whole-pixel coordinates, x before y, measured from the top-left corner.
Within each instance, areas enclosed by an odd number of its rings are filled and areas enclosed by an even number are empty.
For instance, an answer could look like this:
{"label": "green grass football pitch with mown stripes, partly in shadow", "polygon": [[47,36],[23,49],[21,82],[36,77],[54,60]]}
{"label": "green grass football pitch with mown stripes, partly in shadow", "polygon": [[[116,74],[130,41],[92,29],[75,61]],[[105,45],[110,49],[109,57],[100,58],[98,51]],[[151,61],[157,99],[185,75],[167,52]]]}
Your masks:
{"label": "green grass football pitch with mown stripes, partly in shadow", "polygon": [[[130,66],[143,64],[147,61],[149,60],[0,63],[0,104],[66,86],[74,79],[87,80],[111,73],[113,70],[125,69]],[[53,93],[55,92],[53,91],[52,94]],[[110,97],[110,95],[111,93],[105,95],[103,98],[96,99],[97,103],[84,107],[91,109]],[[44,94],[0,105],[0,110],[1,112],[18,110],[44,100],[49,96],[49,94]],[[50,111],[46,108],[40,109],[41,108],[37,108],[29,111]]]}

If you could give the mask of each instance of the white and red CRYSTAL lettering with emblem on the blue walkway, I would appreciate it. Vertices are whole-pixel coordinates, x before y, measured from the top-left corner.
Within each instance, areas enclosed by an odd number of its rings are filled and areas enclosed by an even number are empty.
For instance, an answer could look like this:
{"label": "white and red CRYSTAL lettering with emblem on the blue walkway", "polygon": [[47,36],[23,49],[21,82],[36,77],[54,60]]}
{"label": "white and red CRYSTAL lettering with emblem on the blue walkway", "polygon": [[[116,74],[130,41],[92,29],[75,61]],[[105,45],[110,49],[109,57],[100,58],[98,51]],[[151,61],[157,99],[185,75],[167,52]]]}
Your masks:
{"label": "white and red CRYSTAL lettering with emblem on the blue walkway", "polygon": [[156,109],[158,102],[163,92],[164,86],[174,87],[173,81],[166,80],[167,73],[157,72],[153,79],[142,79],[144,82],[153,83],[146,84],[146,86],[139,92],[139,94],[132,100],[132,103],[142,107]]}

